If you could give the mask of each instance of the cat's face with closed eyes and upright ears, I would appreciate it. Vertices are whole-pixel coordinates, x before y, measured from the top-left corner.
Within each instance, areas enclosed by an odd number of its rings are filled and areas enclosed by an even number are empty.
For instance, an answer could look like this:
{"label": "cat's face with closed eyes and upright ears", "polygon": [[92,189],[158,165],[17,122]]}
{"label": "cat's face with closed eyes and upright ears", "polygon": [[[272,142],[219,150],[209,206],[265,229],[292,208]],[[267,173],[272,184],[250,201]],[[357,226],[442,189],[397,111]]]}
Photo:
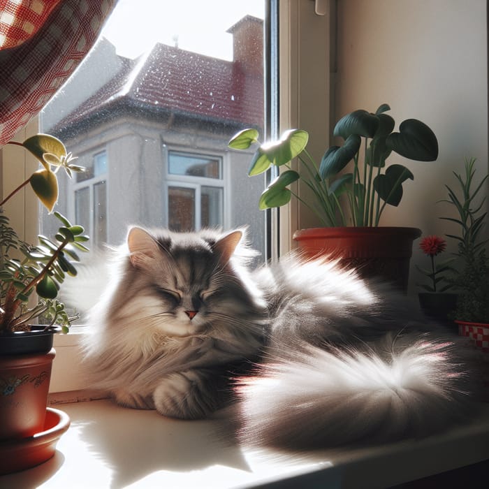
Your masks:
{"label": "cat's face with closed eyes and upright ears", "polygon": [[129,233],[128,245],[138,286],[131,300],[145,326],[170,336],[203,333],[233,323],[245,314],[249,298],[228,268],[241,238],[235,231],[216,241],[198,235],[155,238],[140,228]]}

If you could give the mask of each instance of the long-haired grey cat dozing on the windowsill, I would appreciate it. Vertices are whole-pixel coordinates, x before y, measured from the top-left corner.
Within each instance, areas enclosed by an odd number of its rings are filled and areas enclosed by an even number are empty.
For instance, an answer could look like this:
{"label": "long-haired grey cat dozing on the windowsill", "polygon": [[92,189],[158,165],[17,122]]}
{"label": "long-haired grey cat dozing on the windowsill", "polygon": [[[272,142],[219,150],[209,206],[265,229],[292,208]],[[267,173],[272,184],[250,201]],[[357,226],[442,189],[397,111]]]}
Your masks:
{"label": "long-haired grey cat dozing on the windowsill", "polygon": [[476,409],[472,350],[409,298],[327,258],[253,256],[243,229],[131,228],[90,313],[92,385],[295,448],[421,437]]}

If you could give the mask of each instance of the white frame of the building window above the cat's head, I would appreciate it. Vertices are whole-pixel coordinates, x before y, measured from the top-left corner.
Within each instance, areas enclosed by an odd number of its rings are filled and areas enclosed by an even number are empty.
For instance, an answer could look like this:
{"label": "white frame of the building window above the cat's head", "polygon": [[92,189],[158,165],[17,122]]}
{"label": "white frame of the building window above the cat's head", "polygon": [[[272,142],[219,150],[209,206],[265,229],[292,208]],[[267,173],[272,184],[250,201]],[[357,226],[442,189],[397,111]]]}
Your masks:
{"label": "white frame of the building window above the cat's head", "polygon": [[[221,164],[221,177],[220,178],[210,178],[210,177],[197,177],[194,175],[177,175],[175,173],[170,173],[170,153],[177,153],[189,156],[195,156],[196,158],[200,157],[210,157],[219,159]],[[229,201],[231,198],[231,189],[227,184],[227,166],[228,160],[226,159],[224,154],[218,154],[217,152],[210,152],[205,149],[198,148],[187,148],[187,147],[177,147],[177,146],[165,146],[163,147],[163,159],[164,159],[164,170],[163,170],[163,186],[164,186],[164,196],[165,196],[165,222],[168,224],[170,222],[169,217],[169,206],[168,206],[168,187],[182,187],[187,189],[195,189],[195,204],[194,204],[194,212],[195,212],[195,226],[198,231],[201,227],[200,217],[200,197],[202,195],[201,189],[202,187],[216,187],[218,189],[222,189],[223,198],[222,198],[222,226],[225,228],[229,227],[230,215],[228,212]]]}

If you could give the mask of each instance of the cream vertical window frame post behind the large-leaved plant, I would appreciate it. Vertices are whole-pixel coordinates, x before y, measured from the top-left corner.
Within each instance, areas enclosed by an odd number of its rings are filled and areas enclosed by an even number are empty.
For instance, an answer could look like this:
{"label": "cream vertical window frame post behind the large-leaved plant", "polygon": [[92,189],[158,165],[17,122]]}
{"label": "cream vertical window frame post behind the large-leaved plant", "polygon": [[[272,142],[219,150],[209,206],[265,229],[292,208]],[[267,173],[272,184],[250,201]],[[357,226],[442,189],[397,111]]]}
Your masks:
{"label": "cream vertical window frame post behind the large-leaved plant", "polygon": [[[307,149],[316,161],[321,161],[328,147],[334,108],[335,2],[328,1],[323,7],[325,14],[317,15],[314,1],[280,0],[279,9],[279,132],[305,129],[309,133]],[[307,196],[307,187],[297,183],[294,187],[302,198]],[[296,247],[294,231],[318,225],[317,217],[292,199],[280,208],[279,253]]]}

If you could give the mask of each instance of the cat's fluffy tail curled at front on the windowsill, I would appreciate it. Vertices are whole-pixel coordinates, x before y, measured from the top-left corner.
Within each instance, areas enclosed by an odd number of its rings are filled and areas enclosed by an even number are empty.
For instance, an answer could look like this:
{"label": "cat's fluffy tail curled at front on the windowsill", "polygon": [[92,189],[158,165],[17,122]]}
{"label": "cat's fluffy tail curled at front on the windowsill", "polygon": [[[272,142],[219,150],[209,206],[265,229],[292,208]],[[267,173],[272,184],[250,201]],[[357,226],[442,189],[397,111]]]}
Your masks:
{"label": "cat's fluffy tail curled at front on the windowsill", "polygon": [[240,379],[240,437],[268,446],[328,447],[428,435],[464,413],[450,344],[398,353],[304,346]]}

